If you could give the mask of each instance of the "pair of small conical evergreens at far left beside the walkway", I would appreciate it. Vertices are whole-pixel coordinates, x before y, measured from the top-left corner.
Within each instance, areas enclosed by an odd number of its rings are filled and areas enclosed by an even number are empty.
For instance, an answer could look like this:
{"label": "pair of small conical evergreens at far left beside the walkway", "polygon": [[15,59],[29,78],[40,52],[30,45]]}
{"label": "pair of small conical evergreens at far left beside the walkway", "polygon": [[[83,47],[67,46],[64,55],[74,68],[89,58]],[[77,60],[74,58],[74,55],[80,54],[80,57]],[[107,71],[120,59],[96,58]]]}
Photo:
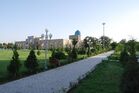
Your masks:
{"label": "pair of small conical evergreens at far left beside the walkway", "polygon": [[[31,50],[26,61],[24,62],[25,67],[28,69],[29,74],[36,73],[38,71],[38,61],[35,55],[34,50]],[[22,64],[19,59],[19,54],[17,52],[17,48],[13,49],[13,56],[10,64],[7,66],[7,70],[9,72],[10,77],[16,78],[20,75],[20,68]]]}

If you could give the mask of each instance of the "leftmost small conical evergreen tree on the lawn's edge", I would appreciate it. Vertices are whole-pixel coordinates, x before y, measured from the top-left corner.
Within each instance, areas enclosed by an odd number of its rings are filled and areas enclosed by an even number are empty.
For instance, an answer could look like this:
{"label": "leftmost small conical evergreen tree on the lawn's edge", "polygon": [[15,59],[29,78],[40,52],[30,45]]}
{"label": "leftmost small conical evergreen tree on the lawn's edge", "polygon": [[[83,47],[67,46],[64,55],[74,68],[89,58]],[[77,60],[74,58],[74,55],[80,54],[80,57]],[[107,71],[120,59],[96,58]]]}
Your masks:
{"label": "leftmost small conical evergreen tree on the lawn's edge", "polygon": [[20,60],[19,60],[19,54],[16,49],[13,49],[13,57],[10,61],[10,64],[7,67],[7,70],[10,73],[10,76],[17,77],[19,74],[19,69],[21,67]]}

